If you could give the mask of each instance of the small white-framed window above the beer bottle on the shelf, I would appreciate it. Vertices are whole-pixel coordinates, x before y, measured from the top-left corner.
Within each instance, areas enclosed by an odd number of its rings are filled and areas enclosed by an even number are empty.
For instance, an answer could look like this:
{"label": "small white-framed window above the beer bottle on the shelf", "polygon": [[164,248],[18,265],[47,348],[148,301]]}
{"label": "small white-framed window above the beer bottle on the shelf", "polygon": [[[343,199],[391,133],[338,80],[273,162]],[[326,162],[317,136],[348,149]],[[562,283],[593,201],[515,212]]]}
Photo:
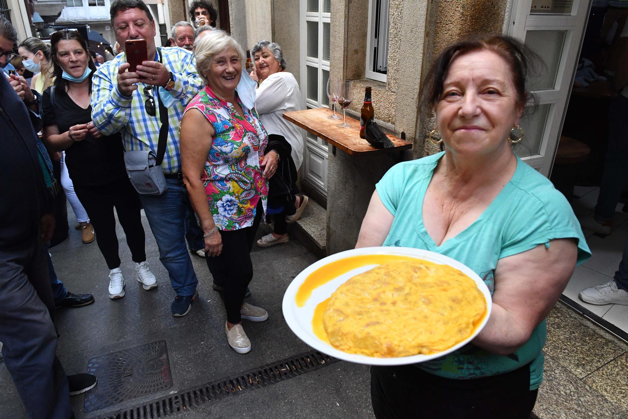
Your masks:
{"label": "small white-framed window above the beer bottle on the shelf", "polygon": [[[375,48],[379,47],[377,54],[377,64],[383,64],[386,57],[386,63],[388,62],[388,37],[389,37],[389,13],[390,13],[390,0],[379,0],[381,3],[380,10],[386,10],[386,13],[380,14],[379,33],[375,33],[376,23],[376,3],[378,0],[369,0],[369,22],[367,25],[366,35],[366,62],[365,62],[365,75],[367,79],[377,80],[386,83],[387,75],[378,73],[372,70],[374,61]],[[377,37],[376,37],[377,35]]]}

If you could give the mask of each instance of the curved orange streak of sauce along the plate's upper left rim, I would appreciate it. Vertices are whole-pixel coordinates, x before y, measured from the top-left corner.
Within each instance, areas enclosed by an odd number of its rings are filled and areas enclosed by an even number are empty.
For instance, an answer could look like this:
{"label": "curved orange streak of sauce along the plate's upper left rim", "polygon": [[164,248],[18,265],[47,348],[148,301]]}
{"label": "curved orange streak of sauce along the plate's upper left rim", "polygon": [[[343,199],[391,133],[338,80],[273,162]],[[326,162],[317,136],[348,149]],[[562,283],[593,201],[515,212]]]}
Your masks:
{"label": "curved orange streak of sauce along the plate's upper left rim", "polygon": [[401,255],[360,255],[347,257],[345,259],[338,259],[335,262],[331,262],[325,266],[318,268],[305,278],[303,284],[296,291],[295,302],[296,306],[303,307],[305,302],[310,298],[312,291],[332,281],[342,274],[346,274],[349,271],[353,271],[356,268],[365,265],[381,265],[389,262],[409,262],[411,260],[417,260],[416,257],[401,256]]}

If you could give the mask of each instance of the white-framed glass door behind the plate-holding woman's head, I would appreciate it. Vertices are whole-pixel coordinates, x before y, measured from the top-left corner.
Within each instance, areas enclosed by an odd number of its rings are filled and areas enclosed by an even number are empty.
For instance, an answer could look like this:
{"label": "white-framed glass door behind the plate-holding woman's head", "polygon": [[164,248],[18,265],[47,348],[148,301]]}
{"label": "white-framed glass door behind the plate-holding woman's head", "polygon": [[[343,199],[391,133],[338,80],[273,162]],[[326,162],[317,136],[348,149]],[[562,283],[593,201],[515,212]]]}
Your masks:
{"label": "white-framed glass door behind the plate-holding woman's head", "polygon": [[538,106],[529,103],[519,125],[524,139],[514,152],[549,176],[571,92],[591,0],[518,0],[509,35],[519,38],[545,64],[531,81]]}

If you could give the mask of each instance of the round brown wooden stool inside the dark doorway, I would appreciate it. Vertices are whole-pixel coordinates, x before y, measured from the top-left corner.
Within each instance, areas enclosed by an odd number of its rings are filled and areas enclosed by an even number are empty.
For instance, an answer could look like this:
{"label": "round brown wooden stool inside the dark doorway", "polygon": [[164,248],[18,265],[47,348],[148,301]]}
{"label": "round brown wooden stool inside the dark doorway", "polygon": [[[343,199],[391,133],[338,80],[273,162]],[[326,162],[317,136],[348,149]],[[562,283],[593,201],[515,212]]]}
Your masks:
{"label": "round brown wooden stool inside the dark doorway", "polygon": [[587,160],[590,152],[591,149],[585,143],[561,135],[549,180],[570,202],[573,197],[573,184],[578,163]]}

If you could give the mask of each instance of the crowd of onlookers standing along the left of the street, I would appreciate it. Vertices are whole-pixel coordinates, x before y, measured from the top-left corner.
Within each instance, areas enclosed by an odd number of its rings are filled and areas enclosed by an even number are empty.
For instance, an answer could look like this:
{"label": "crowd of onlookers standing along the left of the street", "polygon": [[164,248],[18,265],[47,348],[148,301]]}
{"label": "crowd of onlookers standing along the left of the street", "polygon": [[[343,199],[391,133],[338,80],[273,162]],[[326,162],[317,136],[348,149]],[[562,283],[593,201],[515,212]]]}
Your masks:
{"label": "crowd of onlookers standing along the left of the street", "polygon": [[[8,137],[0,162],[0,322],[7,325],[0,342],[34,418],[73,416],[69,394],[96,385],[89,374],[66,379],[55,355],[53,311],[94,303],[55,274],[48,247],[65,237],[53,238],[54,215],[65,208],[59,194],[83,242],[95,240],[109,267],[109,298],[124,297],[129,275],[147,291],[163,283],[146,261],[143,210],[175,291],[173,316],[187,315],[198,295],[192,254],[205,258],[223,296],[232,349],[251,350],[243,319],[268,318],[244,301],[250,251],[263,222],[273,232],[257,245],[286,242],[287,224],[308,201],[296,186],[303,135],[281,118],[302,109],[301,93],[279,45],[252,47],[249,74],[241,45],[214,28],[216,19],[211,4],[195,1],[192,23],[173,25],[170,45],[160,47],[146,4],[116,0],[116,55],[106,61],[78,31],[19,41],[0,18],[0,129]],[[131,71],[124,45],[139,39],[148,60]],[[121,270],[114,210],[134,272]],[[62,218],[58,225],[67,224]]]}

